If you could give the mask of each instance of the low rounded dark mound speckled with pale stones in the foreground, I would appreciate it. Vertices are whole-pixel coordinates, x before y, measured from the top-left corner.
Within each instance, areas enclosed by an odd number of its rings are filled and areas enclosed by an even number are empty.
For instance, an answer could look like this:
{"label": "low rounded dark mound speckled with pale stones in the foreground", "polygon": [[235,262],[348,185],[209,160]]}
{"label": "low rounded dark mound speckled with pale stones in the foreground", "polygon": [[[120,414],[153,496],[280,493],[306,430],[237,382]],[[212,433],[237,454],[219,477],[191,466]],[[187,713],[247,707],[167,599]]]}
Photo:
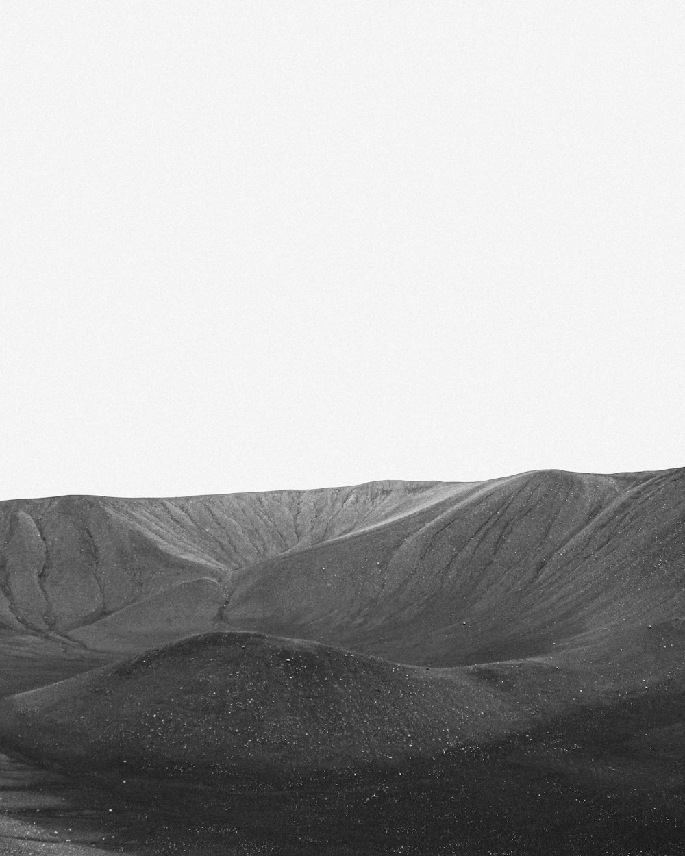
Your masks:
{"label": "low rounded dark mound speckled with pale stones in the foreground", "polygon": [[240,787],[258,771],[431,757],[522,717],[461,670],[210,633],[9,698],[0,732],[31,758],[115,787],[122,775]]}

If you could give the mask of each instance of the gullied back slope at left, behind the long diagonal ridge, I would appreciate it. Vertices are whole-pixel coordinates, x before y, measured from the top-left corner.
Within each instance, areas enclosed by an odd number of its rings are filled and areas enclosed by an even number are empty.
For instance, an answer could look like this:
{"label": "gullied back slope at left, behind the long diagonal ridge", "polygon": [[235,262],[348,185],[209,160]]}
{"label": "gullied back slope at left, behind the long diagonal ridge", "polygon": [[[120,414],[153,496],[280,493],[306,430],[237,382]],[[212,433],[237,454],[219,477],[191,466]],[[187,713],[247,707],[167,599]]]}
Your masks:
{"label": "gullied back slope at left, behind the long diagonal ridge", "polygon": [[188,580],[373,526],[461,490],[378,482],[324,490],[0,502],[0,626],[63,630]]}

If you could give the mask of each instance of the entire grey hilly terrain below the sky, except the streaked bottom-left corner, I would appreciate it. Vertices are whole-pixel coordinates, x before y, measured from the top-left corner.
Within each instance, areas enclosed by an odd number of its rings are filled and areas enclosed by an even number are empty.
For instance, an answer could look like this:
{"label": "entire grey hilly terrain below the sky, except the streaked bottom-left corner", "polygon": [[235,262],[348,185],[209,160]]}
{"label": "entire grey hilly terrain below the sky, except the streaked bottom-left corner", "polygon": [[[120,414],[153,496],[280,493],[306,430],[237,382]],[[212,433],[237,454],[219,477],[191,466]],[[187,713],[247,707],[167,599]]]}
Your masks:
{"label": "entire grey hilly terrain below the sky, except the streaked bottom-left corner", "polygon": [[682,469],[3,502],[0,751],[131,853],[682,853],[684,524]]}

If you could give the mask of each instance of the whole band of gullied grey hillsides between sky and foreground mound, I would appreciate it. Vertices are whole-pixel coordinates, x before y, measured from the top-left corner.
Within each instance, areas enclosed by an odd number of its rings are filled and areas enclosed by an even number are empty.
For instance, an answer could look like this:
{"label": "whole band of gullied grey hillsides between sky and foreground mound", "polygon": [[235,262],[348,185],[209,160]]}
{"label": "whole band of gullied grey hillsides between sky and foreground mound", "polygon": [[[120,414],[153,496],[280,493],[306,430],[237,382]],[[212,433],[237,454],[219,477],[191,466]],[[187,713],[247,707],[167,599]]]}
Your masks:
{"label": "whole band of gullied grey hillsides between sky and foreground mound", "polygon": [[599,657],[685,615],[682,469],[3,514],[5,626],[113,654],[238,629],[418,665]]}

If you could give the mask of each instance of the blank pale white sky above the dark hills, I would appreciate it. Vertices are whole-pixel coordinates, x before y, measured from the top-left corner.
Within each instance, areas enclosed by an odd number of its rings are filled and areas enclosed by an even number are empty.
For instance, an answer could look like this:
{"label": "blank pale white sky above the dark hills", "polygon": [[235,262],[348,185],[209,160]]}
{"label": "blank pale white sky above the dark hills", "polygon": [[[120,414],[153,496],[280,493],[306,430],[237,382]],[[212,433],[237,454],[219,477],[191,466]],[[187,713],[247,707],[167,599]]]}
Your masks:
{"label": "blank pale white sky above the dark hills", "polygon": [[685,466],[680,0],[0,31],[0,499]]}

